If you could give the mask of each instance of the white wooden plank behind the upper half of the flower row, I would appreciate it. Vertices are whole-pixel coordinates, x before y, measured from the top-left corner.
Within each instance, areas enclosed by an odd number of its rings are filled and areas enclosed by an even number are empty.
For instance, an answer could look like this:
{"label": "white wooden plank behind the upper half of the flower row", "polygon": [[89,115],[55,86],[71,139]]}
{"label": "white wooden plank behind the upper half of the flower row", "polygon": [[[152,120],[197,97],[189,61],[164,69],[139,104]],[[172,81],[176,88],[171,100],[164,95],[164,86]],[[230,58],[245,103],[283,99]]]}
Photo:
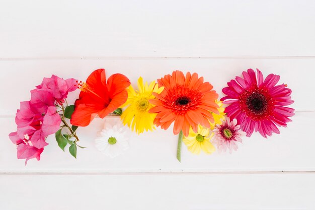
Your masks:
{"label": "white wooden plank behind the upper half of the flower row", "polygon": [[[226,83],[241,76],[248,68],[259,68],[265,77],[268,74],[281,76],[279,83],[285,83],[293,90],[291,105],[296,110],[315,110],[313,96],[313,77],[315,59],[80,59],[80,60],[20,60],[0,61],[0,78],[2,89],[0,98],[0,115],[15,115],[20,101],[29,100],[29,90],[39,85],[43,77],[55,74],[63,78],[76,78],[85,81],[97,68],[107,69],[107,75],[125,74],[133,85],[138,77],[144,81],[153,81],[171,74],[175,69],[183,72],[197,72],[205,81],[223,96],[221,90]],[[78,97],[78,91],[69,94],[69,102]]]}

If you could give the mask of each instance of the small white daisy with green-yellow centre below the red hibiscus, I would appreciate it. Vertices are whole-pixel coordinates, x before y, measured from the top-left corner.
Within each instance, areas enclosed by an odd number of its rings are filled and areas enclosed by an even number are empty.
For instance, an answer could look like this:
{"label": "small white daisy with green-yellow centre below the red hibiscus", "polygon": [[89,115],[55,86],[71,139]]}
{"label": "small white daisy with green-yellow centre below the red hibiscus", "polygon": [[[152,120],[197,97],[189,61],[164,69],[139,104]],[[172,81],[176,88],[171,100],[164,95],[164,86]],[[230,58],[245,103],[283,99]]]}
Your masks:
{"label": "small white daisy with green-yellow centre below the red hibiscus", "polygon": [[104,129],[98,133],[95,146],[106,156],[115,158],[129,148],[128,137],[125,134],[126,131],[120,124],[116,123],[113,126],[106,124]]}

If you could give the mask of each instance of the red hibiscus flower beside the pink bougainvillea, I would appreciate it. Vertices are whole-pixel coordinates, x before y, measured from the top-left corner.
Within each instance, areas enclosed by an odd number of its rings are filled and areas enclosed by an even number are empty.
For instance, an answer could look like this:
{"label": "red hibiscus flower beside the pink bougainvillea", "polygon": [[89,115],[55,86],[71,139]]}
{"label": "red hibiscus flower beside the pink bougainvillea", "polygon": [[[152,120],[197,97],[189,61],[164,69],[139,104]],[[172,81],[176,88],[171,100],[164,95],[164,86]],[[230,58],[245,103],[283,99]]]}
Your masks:
{"label": "red hibiscus flower beside the pink bougainvillea", "polygon": [[121,74],[110,76],[106,83],[105,69],[95,70],[86,83],[78,83],[80,98],[75,101],[71,124],[87,126],[96,115],[104,118],[126,102],[129,79]]}

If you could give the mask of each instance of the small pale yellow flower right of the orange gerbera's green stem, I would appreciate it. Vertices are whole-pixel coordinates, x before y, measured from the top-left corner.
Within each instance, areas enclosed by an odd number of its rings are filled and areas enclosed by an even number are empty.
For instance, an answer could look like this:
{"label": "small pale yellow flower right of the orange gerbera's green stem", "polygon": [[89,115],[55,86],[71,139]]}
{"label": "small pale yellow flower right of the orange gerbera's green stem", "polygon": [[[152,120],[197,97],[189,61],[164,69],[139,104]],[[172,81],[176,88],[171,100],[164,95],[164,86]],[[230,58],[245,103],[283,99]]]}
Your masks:
{"label": "small pale yellow flower right of the orange gerbera's green stem", "polygon": [[210,143],[213,132],[210,134],[210,129],[198,125],[198,132],[195,133],[190,127],[189,135],[183,137],[183,142],[188,150],[194,154],[200,154],[203,150],[206,154],[211,154],[215,151],[215,147]]}

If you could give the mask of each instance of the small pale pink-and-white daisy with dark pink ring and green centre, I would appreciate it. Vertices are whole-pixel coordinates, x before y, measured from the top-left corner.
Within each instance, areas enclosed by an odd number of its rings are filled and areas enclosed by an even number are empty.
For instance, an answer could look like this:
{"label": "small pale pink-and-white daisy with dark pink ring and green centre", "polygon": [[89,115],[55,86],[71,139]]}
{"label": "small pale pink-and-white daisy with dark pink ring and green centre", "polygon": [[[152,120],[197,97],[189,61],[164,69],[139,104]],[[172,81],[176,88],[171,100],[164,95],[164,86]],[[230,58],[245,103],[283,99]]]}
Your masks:
{"label": "small pale pink-and-white daisy with dark pink ring and green centre", "polygon": [[227,117],[222,121],[221,125],[216,125],[213,129],[214,136],[212,143],[216,145],[218,152],[226,152],[229,149],[229,153],[238,150],[237,142],[242,143],[242,135],[246,135],[246,132],[240,130],[237,119],[230,119]]}

